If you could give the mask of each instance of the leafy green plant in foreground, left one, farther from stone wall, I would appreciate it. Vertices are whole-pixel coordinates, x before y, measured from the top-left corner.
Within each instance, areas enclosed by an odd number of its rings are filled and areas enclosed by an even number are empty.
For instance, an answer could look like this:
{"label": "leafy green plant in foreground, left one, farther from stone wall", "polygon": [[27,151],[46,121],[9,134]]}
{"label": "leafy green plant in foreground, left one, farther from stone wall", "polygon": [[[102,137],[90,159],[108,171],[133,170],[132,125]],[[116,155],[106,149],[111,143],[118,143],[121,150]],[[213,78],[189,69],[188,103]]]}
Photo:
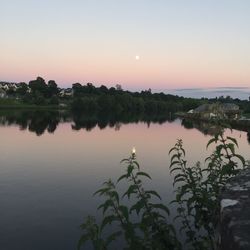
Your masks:
{"label": "leafy green plant in foreground, left one, farther from stone wall", "polygon": [[[122,162],[126,167],[125,174],[118,178],[116,184],[109,180],[95,192],[95,195],[105,198],[98,207],[102,210],[103,219],[95,230],[95,237],[88,234],[93,227],[88,226],[88,220],[82,225],[84,241],[79,241],[79,248],[88,239],[93,246],[97,240],[102,242],[103,248],[94,246],[95,249],[105,249],[117,237],[123,237],[127,244],[125,249],[180,249],[174,227],[168,223],[168,207],[154,202],[155,198],[161,199],[160,195],[154,190],[145,190],[143,186],[143,180],[151,177],[140,170],[134,153]],[[116,185],[123,180],[129,186],[120,197]],[[122,204],[124,199],[130,200],[131,205]],[[134,219],[135,216],[137,219]],[[118,230],[111,234],[112,237],[103,239],[103,232],[110,224],[116,224]]]}

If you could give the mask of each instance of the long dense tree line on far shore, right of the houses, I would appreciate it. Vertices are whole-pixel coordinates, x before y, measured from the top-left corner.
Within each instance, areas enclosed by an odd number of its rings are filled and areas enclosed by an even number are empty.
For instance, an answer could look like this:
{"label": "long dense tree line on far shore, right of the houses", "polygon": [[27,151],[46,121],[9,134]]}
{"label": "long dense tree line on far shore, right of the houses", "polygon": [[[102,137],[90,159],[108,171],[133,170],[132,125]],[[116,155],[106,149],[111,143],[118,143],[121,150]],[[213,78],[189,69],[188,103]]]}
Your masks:
{"label": "long dense tree line on far shore, right of the houses", "polygon": [[95,87],[91,83],[73,84],[72,110],[82,112],[112,112],[141,114],[169,114],[188,111],[202,103],[201,100],[184,98],[164,93],[152,93],[151,90],[131,92],[120,85],[107,88]]}

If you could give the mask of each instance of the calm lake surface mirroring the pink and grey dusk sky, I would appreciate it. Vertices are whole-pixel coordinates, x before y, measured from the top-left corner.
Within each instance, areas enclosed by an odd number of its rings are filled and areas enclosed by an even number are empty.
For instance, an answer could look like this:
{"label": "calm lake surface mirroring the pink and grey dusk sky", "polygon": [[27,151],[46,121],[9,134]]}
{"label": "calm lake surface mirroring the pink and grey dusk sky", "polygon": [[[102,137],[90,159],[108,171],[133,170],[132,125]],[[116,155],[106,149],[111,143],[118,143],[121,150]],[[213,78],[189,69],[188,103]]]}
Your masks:
{"label": "calm lake surface mirroring the pink and grey dusk sky", "polygon": [[[142,169],[153,178],[146,185],[165,201],[172,197],[168,151],[176,139],[183,139],[191,163],[203,162],[209,153],[205,145],[210,136],[186,129],[178,119],[161,124],[113,121],[108,126],[67,117],[46,119],[37,116],[34,121],[27,114],[25,119],[23,114],[0,119],[2,250],[76,249],[79,225],[86,215],[97,214],[100,200],[92,194],[104,180],[123,173],[119,162],[133,146]],[[247,157],[246,132],[232,135]]]}

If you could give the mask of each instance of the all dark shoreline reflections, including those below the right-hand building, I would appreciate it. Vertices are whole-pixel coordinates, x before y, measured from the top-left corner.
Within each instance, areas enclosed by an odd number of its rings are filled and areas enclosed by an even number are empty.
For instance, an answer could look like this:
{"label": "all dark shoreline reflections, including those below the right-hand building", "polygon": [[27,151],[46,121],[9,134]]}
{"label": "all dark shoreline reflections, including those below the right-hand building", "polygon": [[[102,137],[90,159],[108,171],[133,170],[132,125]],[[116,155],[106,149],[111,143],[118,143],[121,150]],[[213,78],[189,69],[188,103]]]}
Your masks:
{"label": "all dark shoreline reflections, including those below the right-hand building", "polygon": [[[173,122],[174,116],[147,116],[145,114],[133,113],[99,113],[99,114],[85,114],[85,113],[71,113],[67,111],[57,110],[22,110],[22,111],[2,111],[0,113],[0,124],[3,126],[16,125],[20,130],[27,130],[41,136],[46,131],[54,133],[59,123],[70,122],[72,130],[91,131],[98,127],[100,130],[107,127],[120,130],[122,125],[129,123],[146,123],[148,127],[150,124],[163,124],[165,122]],[[183,119],[181,125],[186,129],[197,129],[204,135],[214,135],[218,133],[221,127],[214,124],[209,124],[204,121],[193,121]],[[247,132],[247,141],[250,144],[250,128],[248,126],[240,126],[232,124],[233,129],[238,129]]]}

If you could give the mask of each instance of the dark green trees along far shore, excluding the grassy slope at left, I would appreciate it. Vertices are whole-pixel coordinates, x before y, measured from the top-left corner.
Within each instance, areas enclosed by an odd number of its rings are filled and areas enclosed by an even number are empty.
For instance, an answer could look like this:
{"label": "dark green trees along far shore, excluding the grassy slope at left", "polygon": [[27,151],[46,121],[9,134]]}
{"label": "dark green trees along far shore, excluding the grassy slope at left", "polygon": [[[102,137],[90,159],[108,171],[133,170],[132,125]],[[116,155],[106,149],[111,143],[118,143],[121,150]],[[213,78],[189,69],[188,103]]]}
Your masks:
{"label": "dark green trees along far shore, excluding the grassy slope at left", "polygon": [[[73,95],[71,95],[73,92]],[[94,86],[92,83],[82,85],[80,83],[72,84],[71,89],[68,88],[60,93],[56,82],[49,80],[48,83],[42,77],[31,80],[28,85],[24,82],[19,83],[18,87],[9,88],[6,95],[11,98],[22,99],[26,103],[34,104],[36,98],[34,96],[41,95],[46,99],[46,104],[50,104],[50,99],[56,96],[62,100],[70,100],[73,110],[81,110],[85,112],[83,105],[75,105],[76,99],[90,98],[94,103],[95,112],[116,112],[116,113],[136,113],[136,114],[169,114],[169,112],[186,112],[190,109],[197,108],[204,103],[234,103],[240,107],[244,115],[250,113],[250,102],[248,100],[233,99],[229,96],[220,98],[184,98],[165,93],[152,93],[151,89],[139,92],[130,92],[123,90],[121,85],[107,88],[104,85],[100,87]],[[41,104],[38,104],[41,105]],[[88,110],[87,112],[93,112]]]}

